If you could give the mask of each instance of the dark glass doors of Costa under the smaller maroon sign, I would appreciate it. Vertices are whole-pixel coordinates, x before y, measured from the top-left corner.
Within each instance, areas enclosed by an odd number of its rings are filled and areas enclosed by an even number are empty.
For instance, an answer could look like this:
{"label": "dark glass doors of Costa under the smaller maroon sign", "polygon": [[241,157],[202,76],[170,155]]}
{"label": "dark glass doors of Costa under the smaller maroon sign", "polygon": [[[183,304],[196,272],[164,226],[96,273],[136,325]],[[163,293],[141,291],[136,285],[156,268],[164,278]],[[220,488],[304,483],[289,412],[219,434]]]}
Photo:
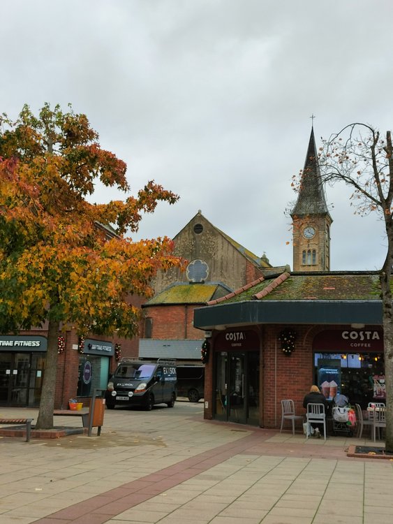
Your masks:
{"label": "dark glass doors of Costa under the smaller maroon sign", "polygon": [[216,354],[215,418],[241,424],[259,423],[258,351]]}

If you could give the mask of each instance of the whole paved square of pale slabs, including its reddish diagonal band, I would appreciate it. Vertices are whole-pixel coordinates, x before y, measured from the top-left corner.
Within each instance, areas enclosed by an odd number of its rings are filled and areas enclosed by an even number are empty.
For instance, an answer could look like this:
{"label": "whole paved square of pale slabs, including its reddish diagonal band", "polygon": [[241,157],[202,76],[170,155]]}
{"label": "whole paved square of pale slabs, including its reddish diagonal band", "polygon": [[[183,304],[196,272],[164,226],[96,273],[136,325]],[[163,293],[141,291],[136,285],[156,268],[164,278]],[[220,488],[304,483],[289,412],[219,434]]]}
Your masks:
{"label": "whole paved square of pale slabs, including its reddish diagonal band", "polygon": [[393,460],[347,456],[367,437],[306,440],[202,417],[202,402],[177,402],[106,410],[100,437],[0,437],[0,523],[392,523]]}

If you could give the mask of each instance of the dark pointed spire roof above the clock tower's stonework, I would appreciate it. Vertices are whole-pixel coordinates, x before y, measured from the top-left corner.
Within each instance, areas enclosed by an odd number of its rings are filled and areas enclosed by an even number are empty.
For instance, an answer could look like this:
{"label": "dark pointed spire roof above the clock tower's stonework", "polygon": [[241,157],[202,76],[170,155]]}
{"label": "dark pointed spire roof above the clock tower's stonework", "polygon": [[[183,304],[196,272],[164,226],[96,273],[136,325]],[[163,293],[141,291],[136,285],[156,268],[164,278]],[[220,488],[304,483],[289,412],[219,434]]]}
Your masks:
{"label": "dark pointed spire roof above the clock tower's stonework", "polygon": [[314,129],[311,127],[309,147],[306,154],[306,161],[304,162],[299,194],[290,216],[292,218],[306,217],[313,214],[329,215],[329,210],[327,209],[325,191],[323,190],[320,177]]}

